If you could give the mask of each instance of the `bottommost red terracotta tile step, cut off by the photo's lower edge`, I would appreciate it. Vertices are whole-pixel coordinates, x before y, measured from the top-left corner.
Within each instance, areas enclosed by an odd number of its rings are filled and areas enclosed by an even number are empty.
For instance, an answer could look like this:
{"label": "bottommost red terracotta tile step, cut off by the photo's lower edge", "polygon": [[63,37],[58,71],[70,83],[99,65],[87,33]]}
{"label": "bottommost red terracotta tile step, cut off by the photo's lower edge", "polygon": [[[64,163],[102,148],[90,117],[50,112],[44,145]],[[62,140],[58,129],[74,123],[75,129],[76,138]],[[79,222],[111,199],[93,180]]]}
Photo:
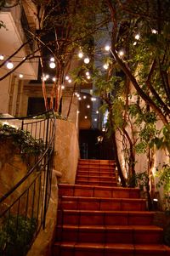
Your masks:
{"label": "bottommost red terracotta tile step, cut off by the photo's lower edge", "polygon": [[164,245],[133,245],[112,243],[55,242],[53,256],[169,256]]}

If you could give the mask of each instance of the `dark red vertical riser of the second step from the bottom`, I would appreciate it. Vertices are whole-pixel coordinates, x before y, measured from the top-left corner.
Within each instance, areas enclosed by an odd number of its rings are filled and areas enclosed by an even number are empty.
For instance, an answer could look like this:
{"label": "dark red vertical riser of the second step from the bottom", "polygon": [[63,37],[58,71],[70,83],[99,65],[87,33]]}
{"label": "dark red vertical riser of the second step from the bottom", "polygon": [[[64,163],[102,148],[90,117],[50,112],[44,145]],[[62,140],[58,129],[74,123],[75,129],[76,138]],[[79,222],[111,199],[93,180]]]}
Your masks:
{"label": "dark red vertical riser of the second step from the bottom", "polygon": [[58,228],[56,238],[66,242],[159,244],[162,242],[160,230],[80,230]]}

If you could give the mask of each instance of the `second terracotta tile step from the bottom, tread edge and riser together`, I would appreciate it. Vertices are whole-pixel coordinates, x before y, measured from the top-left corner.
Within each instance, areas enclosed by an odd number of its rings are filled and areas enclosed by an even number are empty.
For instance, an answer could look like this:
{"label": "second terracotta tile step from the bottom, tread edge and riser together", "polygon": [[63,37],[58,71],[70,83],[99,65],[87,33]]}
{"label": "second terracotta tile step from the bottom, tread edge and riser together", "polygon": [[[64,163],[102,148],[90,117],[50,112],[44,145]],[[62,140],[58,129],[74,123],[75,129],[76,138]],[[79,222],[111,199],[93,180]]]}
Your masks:
{"label": "second terracotta tile step from the bottom, tread edge and riser together", "polygon": [[159,244],[162,243],[162,231],[154,225],[58,225],[56,239],[66,242],[123,243],[126,241],[129,244]]}

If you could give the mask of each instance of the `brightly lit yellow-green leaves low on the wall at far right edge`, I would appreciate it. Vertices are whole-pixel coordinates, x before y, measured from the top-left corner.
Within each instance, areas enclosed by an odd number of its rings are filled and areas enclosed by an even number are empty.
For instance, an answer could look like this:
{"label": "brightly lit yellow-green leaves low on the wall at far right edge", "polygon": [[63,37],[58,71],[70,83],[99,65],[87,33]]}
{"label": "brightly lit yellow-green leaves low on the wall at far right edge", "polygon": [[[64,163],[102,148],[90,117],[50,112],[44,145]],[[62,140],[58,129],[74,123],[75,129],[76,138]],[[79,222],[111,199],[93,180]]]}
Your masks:
{"label": "brightly lit yellow-green leaves low on the wall at far right edge", "polygon": [[159,177],[157,188],[163,187],[165,210],[170,212],[170,165],[164,164],[161,170],[157,170],[156,176]]}

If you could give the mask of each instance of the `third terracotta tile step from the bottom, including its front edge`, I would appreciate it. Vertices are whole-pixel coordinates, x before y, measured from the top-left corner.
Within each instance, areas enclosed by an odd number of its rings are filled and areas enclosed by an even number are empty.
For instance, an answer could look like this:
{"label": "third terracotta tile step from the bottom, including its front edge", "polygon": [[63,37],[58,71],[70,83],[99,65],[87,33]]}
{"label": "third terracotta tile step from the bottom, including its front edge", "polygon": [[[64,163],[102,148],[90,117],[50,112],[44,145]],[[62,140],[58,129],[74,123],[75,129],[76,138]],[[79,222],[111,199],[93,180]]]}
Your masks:
{"label": "third terracotta tile step from the bottom, including its front edge", "polygon": [[152,225],[154,212],[58,210],[58,225]]}

